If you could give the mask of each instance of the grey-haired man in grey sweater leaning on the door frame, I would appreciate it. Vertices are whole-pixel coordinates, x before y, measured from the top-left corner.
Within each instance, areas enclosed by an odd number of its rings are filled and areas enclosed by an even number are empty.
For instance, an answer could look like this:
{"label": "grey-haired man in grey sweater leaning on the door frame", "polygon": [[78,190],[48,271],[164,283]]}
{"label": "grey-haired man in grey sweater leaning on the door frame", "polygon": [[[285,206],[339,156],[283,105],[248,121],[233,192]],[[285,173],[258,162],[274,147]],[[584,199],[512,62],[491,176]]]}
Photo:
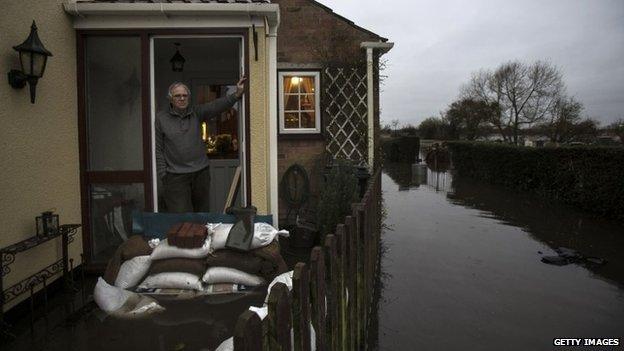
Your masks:
{"label": "grey-haired man in grey sweater leaning on the door frame", "polygon": [[156,115],[156,168],[168,212],[208,212],[210,173],[201,123],[231,108],[243,96],[245,78],[236,92],[189,106],[191,92],[180,82],[169,86],[169,109]]}

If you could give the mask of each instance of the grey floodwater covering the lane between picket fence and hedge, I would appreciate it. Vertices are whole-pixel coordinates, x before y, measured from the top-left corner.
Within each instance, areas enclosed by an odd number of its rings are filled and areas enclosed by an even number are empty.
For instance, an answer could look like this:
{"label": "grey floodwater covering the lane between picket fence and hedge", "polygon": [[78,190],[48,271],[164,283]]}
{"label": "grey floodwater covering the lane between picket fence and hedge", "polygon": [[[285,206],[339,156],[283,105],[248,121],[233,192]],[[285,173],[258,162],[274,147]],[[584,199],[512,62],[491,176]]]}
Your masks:
{"label": "grey floodwater covering the lane between picket fence and hedge", "polygon": [[[379,350],[553,350],[554,338],[624,340],[624,223],[388,164]],[[604,266],[542,263],[560,246]],[[591,350],[622,349],[614,347]]]}

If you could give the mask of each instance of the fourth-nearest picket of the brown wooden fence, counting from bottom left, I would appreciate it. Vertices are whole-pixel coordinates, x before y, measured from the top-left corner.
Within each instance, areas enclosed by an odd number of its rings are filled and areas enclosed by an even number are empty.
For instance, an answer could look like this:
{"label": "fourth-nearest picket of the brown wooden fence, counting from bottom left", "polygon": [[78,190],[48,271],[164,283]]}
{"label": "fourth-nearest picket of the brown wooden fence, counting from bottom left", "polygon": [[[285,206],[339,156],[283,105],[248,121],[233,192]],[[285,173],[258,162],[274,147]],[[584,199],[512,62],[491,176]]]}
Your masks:
{"label": "fourth-nearest picket of the brown wooden fence, counting from bottom left", "polygon": [[323,248],[316,246],[310,253],[310,281],[312,285],[312,325],[316,332],[316,349],[318,351],[327,350],[327,335],[325,331],[325,254]]}

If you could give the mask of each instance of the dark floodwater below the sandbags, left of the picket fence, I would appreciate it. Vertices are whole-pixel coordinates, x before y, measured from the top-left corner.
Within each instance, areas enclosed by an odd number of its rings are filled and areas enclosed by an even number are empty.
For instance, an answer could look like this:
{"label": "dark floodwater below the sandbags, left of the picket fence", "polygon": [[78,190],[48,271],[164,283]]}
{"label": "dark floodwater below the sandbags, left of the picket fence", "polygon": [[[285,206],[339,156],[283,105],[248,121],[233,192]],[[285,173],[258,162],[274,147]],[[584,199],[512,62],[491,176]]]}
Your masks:
{"label": "dark floodwater below the sandbags, left of the picket fence", "polygon": [[[91,292],[93,283],[87,291]],[[68,303],[63,294],[50,301],[48,318],[37,311],[35,328],[19,320],[17,338],[4,340],[1,350],[214,350],[232,336],[238,316],[249,306],[262,306],[265,289],[246,295],[215,295],[193,300],[159,299],[162,313],[137,320],[107,316],[80,294]]]}

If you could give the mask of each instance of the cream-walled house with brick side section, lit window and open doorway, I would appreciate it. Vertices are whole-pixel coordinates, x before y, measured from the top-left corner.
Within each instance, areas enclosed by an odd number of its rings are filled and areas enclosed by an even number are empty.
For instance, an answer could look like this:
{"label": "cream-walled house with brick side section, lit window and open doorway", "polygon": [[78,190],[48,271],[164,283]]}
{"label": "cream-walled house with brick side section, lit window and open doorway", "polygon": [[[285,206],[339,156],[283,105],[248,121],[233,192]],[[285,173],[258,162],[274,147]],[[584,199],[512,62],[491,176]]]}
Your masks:
{"label": "cream-walled house with brick side section, lit window and open doorway", "polygon": [[[326,154],[375,163],[379,57],[392,44],[316,1],[4,5],[2,71],[19,68],[12,47],[28,36],[33,19],[53,56],[34,104],[28,89],[0,88],[0,247],[32,236],[35,216],[53,209],[61,223],[82,224],[70,257],[80,262],[84,253],[89,268],[101,269],[131,234],[130,213],[162,207],[153,121],[167,108],[173,81],[188,84],[200,103],[248,77],[243,100],[203,129],[213,211],[223,210],[239,167],[236,203],[253,204],[277,223],[286,210],[280,177],[290,165],[312,174]],[[4,288],[55,261],[58,245],[53,240],[17,255]]]}

